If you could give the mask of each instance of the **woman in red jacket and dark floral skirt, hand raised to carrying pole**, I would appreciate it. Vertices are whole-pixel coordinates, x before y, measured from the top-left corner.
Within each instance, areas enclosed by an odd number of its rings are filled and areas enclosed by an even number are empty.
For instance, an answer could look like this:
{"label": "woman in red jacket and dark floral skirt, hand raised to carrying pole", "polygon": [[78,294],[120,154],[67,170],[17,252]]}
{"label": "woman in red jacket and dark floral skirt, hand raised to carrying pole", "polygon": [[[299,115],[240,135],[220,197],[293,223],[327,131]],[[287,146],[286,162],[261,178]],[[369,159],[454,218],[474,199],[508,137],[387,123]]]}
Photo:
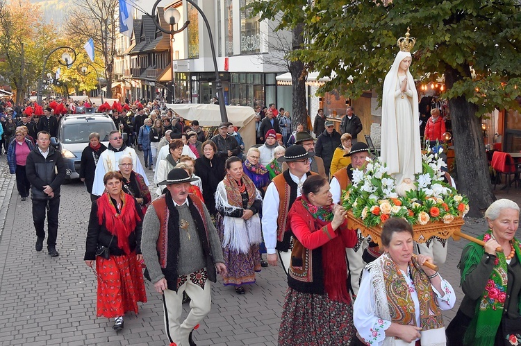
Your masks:
{"label": "woman in red jacket and dark floral skirt, hand raised to carrying pole", "polygon": [[288,214],[294,245],[279,345],[349,345],[354,338],[345,248],[356,245],[356,231],[345,214],[327,180],[306,179]]}

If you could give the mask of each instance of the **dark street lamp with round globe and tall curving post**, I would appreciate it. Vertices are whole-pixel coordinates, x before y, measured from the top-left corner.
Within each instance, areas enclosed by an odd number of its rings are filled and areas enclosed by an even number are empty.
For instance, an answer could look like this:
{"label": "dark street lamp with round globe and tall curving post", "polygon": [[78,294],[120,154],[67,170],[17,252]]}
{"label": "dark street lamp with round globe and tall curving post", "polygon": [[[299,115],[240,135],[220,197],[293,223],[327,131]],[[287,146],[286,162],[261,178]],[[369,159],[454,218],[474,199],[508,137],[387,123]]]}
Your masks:
{"label": "dark street lamp with round globe and tall curving post", "polygon": [[[164,28],[162,28],[159,25],[159,23],[156,21],[155,13],[156,13],[156,8],[160,2],[161,2],[161,0],[157,0],[156,3],[154,3],[154,7],[152,7],[151,18],[154,19],[154,25],[156,26],[156,28],[158,28],[158,30],[162,31],[163,33],[167,33],[172,36],[175,35],[176,33],[181,33],[181,31],[185,30],[185,28],[188,27],[188,24],[190,24],[190,21],[185,21],[185,24],[179,30],[176,30],[176,31],[173,30],[174,25],[178,24],[179,19],[181,19],[181,15],[179,14],[179,11],[176,8],[168,8],[167,10],[165,10],[164,18],[165,18],[165,21],[167,21],[167,23],[170,26],[170,31],[165,30]],[[224,93],[222,92],[222,83],[221,83],[221,78],[219,76],[219,67],[217,67],[217,56],[215,55],[215,45],[213,44],[213,35],[212,35],[212,30],[210,28],[210,24],[208,23],[208,19],[206,18],[206,15],[204,15],[204,12],[201,10],[201,8],[199,8],[199,6],[197,6],[197,3],[195,3],[192,0],[186,0],[186,2],[190,3],[192,6],[195,7],[197,12],[199,12],[201,17],[203,17],[204,24],[206,24],[206,29],[208,30],[208,36],[210,38],[210,48],[212,49],[213,67],[215,69],[215,89],[217,90],[217,97],[219,98],[221,121],[223,123],[227,123],[228,114],[226,114],[226,105],[224,105]],[[172,40],[170,40],[170,41],[172,41]],[[173,61],[172,61],[172,64],[173,64]],[[173,67],[172,67],[172,84],[173,83],[174,83],[174,71],[173,71]]]}

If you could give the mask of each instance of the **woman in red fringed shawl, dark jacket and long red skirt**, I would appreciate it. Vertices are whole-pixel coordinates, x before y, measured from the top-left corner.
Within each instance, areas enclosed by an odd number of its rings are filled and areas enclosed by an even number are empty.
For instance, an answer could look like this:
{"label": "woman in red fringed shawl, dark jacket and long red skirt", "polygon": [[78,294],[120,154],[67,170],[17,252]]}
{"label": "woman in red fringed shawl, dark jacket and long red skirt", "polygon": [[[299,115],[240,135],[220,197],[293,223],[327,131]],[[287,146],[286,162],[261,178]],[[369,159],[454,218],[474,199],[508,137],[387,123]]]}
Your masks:
{"label": "woman in red fringed shawl, dark jacket and long red skirt", "polygon": [[92,202],[83,259],[91,268],[96,261],[97,316],[115,318],[113,329],[120,331],[123,315],[138,313],[138,302],[147,302],[140,266],[142,214],[135,198],[122,191],[120,173],[110,171],[103,181],[106,192]]}

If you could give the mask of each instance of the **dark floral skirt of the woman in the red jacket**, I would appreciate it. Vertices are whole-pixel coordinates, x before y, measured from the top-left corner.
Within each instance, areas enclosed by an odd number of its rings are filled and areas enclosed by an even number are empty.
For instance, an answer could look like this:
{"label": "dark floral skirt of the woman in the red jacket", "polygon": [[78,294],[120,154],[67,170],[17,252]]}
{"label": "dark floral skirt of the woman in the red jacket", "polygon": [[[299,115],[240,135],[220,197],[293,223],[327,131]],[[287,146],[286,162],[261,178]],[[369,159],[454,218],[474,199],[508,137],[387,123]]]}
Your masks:
{"label": "dark floral skirt of the woman in the red jacket", "polygon": [[279,329],[279,345],[340,346],[356,338],[351,303],[288,287]]}

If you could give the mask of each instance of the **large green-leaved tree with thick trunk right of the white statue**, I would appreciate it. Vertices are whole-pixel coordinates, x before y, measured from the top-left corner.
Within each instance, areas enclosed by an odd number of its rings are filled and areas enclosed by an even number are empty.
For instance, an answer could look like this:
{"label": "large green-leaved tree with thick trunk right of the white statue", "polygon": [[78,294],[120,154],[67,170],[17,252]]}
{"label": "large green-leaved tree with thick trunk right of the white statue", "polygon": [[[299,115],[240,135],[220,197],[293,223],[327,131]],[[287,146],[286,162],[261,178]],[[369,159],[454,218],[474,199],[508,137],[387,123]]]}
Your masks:
{"label": "large green-leaved tree with thick trunk right of the white statue", "polygon": [[[469,197],[469,215],[481,216],[495,197],[480,116],[495,108],[518,107],[520,2],[288,0],[280,6],[289,13],[286,25],[302,20],[306,26],[308,45],[293,57],[319,71],[319,77],[337,73],[320,92],[338,89],[352,98],[381,90],[397,53],[396,41],[411,28],[416,38],[411,73],[423,83],[445,79],[442,97],[452,119],[458,189]],[[297,7],[297,14],[286,11]]]}

